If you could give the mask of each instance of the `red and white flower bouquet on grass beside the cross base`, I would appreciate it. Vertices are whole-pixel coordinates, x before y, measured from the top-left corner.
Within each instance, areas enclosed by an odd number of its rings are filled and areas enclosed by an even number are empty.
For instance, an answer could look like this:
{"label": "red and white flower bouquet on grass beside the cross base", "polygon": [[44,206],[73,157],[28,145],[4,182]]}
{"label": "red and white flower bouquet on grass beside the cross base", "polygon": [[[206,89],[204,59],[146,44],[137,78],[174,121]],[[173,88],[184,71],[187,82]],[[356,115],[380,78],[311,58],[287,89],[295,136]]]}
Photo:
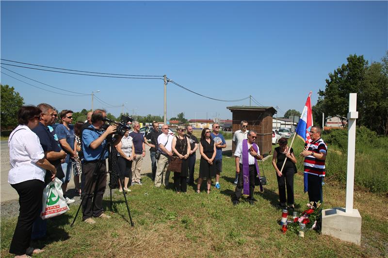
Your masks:
{"label": "red and white flower bouquet on grass beside the cross base", "polygon": [[[315,204],[315,205],[314,205]],[[295,233],[299,232],[299,223],[306,225],[307,229],[315,229],[321,231],[318,221],[321,219],[322,203],[310,202],[307,203],[307,210],[302,212],[299,217],[293,219],[291,223],[287,225],[287,228]]]}

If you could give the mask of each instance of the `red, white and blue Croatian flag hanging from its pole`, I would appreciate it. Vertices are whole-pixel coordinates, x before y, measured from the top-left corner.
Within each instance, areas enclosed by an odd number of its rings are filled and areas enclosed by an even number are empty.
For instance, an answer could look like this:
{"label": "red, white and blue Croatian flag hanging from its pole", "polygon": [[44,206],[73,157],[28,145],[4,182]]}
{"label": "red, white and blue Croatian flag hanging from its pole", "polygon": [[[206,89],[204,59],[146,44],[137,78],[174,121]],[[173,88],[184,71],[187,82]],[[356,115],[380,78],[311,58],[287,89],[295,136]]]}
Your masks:
{"label": "red, white and blue Croatian flag hanging from its pole", "polygon": [[[303,108],[302,116],[299,119],[298,127],[296,127],[295,133],[305,141],[305,146],[310,145],[310,129],[312,124],[312,109],[311,109],[311,91],[308,93],[305,107]],[[307,173],[303,173],[303,180],[305,183],[305,193],[307,192]]]}

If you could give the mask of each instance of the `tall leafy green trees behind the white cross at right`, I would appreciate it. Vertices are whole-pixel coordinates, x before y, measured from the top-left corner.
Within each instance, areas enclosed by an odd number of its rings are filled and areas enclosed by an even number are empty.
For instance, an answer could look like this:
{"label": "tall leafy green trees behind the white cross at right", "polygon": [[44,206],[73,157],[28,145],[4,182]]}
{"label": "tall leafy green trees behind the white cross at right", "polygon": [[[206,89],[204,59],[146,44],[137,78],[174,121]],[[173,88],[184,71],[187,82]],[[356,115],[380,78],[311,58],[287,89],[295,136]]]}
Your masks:
{"label": "tall leafy green trees behind the white cross at right", "polygon": [[347,117],[349,93],[357,93],[358,125],[378,134],[388,134],[388,51],[382,63],[368,66],[363,56],[350,55],[326,79],[324,91],[319,91],[320,107],[325,116]]}

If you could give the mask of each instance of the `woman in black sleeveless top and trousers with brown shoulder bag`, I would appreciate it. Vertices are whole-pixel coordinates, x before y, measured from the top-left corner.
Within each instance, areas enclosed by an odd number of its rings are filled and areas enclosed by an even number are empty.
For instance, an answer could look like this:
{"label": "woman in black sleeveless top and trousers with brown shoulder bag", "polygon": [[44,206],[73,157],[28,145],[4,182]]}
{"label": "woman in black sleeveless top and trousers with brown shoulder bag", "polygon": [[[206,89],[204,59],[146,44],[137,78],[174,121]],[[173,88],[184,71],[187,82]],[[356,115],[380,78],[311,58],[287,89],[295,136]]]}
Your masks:
{"label": "woman in black sleeveless top and trousers with brown shoulder bag", "polygon": [[187,191],[187,176],[189,175],[189,160],[187,158],[190,155],[191,148],[189,138],[184,135],[185,128],[179,125],[177,132],[178,136],[173,138],[171,150],[174,156],[178,156],[182,160],[181,170],[178,172],[174,171],[174,186],[179,194],[180,192],[186,193]]}

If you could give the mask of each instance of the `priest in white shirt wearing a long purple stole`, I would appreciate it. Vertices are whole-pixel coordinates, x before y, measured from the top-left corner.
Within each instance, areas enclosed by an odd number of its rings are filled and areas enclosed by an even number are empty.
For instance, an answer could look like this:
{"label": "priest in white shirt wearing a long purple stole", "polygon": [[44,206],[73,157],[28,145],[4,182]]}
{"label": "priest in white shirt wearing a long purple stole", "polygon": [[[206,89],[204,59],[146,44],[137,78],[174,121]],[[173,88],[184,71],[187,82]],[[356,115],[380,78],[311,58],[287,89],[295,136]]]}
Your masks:
{"label": "priest in white shirt wearing a long purple stole", "polygon": [[[260,176],[257,160],[261,159],[259,146],[255,143],[256,137],[257,134],[255,131],[249,131],[248,139],[242,140],[234,152],[236,159],[236,173],[239,174],[236,191],[233,197],[234,205],[240,202],[242,189],[244,189],[243,194],[249,196],[247,201],[250,204],[253,204],[254,201],[256,201],[253,197],[253,192],[255,190],[256,174]],[[260,191],[263,191],[261,182]]]}

